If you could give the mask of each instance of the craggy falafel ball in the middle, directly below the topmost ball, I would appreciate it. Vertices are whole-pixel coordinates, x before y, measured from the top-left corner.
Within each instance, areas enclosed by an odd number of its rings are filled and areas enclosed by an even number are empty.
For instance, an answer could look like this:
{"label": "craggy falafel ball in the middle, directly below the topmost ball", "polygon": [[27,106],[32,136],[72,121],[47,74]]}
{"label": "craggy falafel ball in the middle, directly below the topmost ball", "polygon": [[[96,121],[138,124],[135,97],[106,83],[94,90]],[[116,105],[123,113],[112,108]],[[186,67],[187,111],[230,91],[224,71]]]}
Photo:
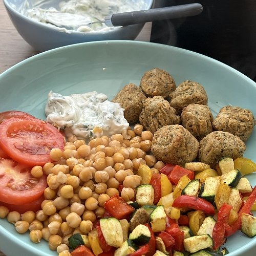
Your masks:
{"label": "craggy falafel ball in the middle, directly below the topmost ball", "polygon": [[146,98],[140,113],[140,123],[153,134],[162,126],[180,123],[177,111],[162,96]]}

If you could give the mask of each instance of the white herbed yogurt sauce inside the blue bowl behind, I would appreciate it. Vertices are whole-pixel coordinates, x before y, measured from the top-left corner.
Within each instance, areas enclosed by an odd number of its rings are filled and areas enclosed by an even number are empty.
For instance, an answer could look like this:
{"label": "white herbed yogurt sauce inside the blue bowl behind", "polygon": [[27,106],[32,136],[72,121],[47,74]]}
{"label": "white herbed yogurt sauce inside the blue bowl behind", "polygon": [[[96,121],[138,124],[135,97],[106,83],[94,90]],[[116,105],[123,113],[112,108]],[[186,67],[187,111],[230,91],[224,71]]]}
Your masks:
{"label": "white herbed yogurt sauce inside the blue bowl behind", "polygon": [[70,30],[94,32],[111,28],[104,23],[87,26],[88,23],[104,20],[105,16],[114,13],[138,11],[146,7],[143,0],[68,0],[61,1],[58,7],[52,0],[34,1],[33,4],[26,0],[20,13],[67,33]]}

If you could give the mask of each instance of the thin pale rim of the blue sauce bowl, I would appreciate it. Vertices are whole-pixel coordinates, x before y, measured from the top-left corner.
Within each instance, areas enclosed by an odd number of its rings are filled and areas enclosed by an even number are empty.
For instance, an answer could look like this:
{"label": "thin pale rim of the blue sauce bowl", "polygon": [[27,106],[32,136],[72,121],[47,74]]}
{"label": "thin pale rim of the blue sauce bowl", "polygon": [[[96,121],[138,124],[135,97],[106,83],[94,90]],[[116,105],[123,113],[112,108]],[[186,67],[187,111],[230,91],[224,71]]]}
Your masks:
{"label": "thin pale rim of the blue sauce bowl", "polygon": [[[153,7],[154,0],[148,0],[148,1],[150,1],[150,3],[148,4],[148,9],[151,9]],[[72,35],[72,34],[74,34],[74,35],[88,35],[88,34],[90,34],[90,35],[101,35],[101,34],[111,34],[111,33],[114,33],[116,31],[119,31],[123,28],[123,27],[115,27],[114,29],[101,31],[101,32],[98,32],[98,31],[80,32],[80,31],[75,31],[75,30],[67,30],[68,32],[66,32],[66,31],[62,31],[61,28],[57,29],[55,27],[48,26],[47,24],[38,22],[38,20],[36,20],[36,19],[27,17],[26,15],[20,13],[16,9],[14,9],[11,6],[11,4],[9,3],[8,0],[3,0],[3,2],[4,2],[4,5],[5,5],[5,8],[7,9],[8,12],[13,12],[16,16],[18,16],[19,18],[25,19],[26,22],[28,22],[30,24],[35,23],[37,26],[39,26],[41,28],[49,29],[52,32],[56,32],[56,33],[66,33],[67,35]],[[125,26],[125,27],[127,27],[127,26]]]}

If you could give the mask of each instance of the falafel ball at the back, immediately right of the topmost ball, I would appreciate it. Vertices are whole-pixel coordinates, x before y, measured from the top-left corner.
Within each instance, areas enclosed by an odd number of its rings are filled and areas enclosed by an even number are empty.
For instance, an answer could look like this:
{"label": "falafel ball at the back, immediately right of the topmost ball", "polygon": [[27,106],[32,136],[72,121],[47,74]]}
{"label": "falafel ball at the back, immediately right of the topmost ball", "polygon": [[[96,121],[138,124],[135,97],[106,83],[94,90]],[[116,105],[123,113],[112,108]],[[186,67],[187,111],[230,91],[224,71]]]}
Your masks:
{"label": "falafel ball at the back, immediately right of the topmost ball", "polygon": [[207,105],[208,97],[203,86],[198,82],[190,80],[183,81],[176,90],[169,94],[170,105],[181,114],[185,106],[196,103]]}

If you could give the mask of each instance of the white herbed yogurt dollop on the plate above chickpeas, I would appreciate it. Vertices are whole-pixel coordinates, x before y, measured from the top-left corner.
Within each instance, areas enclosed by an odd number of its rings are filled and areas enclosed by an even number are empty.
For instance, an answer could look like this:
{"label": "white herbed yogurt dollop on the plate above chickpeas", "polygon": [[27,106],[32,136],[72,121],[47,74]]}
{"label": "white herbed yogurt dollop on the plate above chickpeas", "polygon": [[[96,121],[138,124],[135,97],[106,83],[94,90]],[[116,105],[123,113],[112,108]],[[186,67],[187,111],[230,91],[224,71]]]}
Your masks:
{"label": "white herbed yogurt dollop on the plate above chickpeas", "polygon": [[129,126],[123,117],[124,110],[107,98],[97,92],[63,96],[50,91],[45,108],[46,121],[60,130],[64,129],[66,137],[76,135],[83,140],[97,136],[93,133],[97,126],[106,136],[122,133]]}

